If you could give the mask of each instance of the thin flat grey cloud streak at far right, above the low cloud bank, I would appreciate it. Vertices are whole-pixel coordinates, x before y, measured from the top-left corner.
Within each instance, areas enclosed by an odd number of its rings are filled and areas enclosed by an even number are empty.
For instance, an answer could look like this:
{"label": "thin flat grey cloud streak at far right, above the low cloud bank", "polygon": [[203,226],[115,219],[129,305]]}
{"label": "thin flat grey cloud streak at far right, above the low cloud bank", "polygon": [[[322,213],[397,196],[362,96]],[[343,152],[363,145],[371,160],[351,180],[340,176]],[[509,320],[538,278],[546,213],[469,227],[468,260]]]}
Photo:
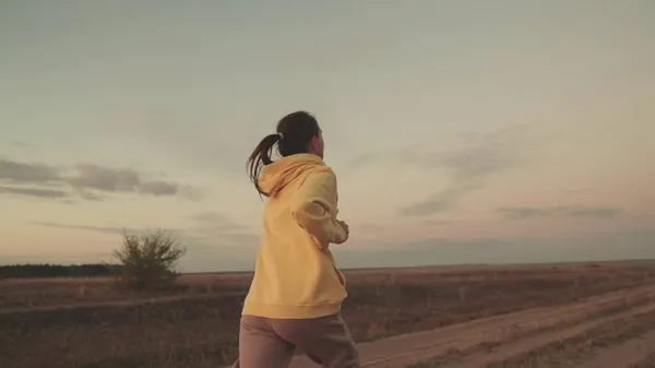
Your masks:
{"label": "thin flat grey cloud streak at far right, above the low cloud bank", "polygon": [[616,207],[590,207],[585,205],[563,205],[551,207],[502,207],[498,210],[508,219],[526,219],[533,217],[593,217],[611,218],[622,214]]}

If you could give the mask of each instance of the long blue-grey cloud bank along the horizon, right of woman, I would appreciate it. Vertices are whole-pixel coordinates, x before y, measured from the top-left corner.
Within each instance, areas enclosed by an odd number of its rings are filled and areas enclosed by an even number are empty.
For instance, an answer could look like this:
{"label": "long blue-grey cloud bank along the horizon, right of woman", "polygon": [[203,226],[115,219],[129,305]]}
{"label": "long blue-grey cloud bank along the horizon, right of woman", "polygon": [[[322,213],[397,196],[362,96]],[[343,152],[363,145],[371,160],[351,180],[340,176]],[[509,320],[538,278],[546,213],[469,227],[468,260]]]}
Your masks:
{"label": "long blue-grey cloud bank along the horizon, right of woman", "polygon": [[511,264],[655,259],[654,232],[551,239],[425,239],[395,248],[337,248],[340,268]]}

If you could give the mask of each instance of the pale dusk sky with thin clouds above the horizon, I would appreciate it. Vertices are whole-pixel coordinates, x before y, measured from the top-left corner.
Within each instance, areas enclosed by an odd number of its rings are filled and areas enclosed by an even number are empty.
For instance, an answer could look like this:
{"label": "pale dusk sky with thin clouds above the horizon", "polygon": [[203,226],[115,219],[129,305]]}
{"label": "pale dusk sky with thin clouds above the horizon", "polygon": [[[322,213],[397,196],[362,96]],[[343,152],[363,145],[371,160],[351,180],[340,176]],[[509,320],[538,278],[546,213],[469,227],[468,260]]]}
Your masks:
{"label": "pale dusk sky with thin clouds above the horizon", "polygon": [[655,2],[0,1],[0,263],[252,269],[245,163],[317,116],[344,268],[655,258]]}

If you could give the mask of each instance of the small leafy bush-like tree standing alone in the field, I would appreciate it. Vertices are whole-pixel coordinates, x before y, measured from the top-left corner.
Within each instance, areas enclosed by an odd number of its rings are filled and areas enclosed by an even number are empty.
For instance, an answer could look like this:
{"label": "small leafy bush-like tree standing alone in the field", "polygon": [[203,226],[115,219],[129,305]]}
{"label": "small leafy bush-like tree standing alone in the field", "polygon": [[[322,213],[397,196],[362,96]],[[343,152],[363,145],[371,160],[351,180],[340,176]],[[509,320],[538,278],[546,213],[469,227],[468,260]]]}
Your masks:
{"label": "small leafy bush-like tree standing alone in the field", "polygon": [[175,268],[187,248],[166,230],[142,235],[123,232],[122,247],[114,252],[121,264],[121,278],[136,289],[171,286],[178,277]]}

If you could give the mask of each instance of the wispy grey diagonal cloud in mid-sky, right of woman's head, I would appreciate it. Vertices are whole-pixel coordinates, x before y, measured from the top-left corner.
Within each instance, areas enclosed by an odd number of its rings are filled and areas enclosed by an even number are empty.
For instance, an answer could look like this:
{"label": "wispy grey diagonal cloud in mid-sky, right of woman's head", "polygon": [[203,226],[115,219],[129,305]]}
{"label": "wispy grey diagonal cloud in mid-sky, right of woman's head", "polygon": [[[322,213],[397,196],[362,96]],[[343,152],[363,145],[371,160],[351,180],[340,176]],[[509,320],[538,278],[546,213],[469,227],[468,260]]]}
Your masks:
{"label": "wispy grey diagonal cloud in mid-sky, right of woman's head", "polygon": [[400,210],[405,216],[422,216],[448,212],[456,207],[467,193],[480,189],[501,173],[525,165],[539,146],[527,126],[515,126],[488,134],[462,134],[467,145],[434,154],[413,154],[408,164],[419,163],[431,169],[445,169],[449,181],[425,201]]}

